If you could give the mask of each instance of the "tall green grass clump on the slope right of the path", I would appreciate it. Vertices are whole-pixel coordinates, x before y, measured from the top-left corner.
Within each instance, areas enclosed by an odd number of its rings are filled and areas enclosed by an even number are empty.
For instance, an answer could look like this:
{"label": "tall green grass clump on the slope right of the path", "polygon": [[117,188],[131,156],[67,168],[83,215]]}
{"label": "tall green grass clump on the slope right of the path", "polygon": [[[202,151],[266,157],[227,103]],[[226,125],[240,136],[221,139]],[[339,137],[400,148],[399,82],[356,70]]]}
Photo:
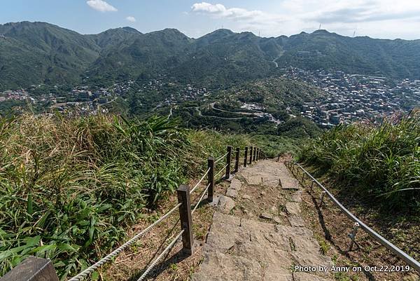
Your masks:
{"label": "tall green grass clump on the slope right of the path", "polygon": [[380,125],[339,125],[300,151],[300,160],[388,208],[420,212],[420,113]]}

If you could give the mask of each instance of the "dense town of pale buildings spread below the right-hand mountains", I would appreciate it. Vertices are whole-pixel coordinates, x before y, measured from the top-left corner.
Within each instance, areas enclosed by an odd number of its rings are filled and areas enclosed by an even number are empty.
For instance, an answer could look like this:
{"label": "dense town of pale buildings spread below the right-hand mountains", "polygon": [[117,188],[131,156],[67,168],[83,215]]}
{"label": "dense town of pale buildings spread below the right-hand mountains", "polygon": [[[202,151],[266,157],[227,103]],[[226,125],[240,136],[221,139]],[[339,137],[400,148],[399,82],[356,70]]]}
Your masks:
{"label": "dense town of pale buildings spread below the right-hand mountains", "polygon": [[342,71],[283,70],[284,76],[311,83],[327,93],[316,102],[305,102],[301,110],[302,116],[325,128],[407,112],[420,104],[420,80],[390,81],[383,76]]}

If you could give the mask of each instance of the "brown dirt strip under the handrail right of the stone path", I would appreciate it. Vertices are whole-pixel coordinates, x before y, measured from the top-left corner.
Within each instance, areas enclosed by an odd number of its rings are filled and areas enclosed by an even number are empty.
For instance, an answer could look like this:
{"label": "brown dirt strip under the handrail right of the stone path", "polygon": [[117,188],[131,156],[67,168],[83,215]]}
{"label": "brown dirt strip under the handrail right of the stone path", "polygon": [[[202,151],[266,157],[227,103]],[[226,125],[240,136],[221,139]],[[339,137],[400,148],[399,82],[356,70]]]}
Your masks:
{"label": "brown dirt strip under the handrail right of the stone path", "polygon": [[[297,176],[301,179],[301,174]],[[304,186],[302,193],[302,212],[305,224],[310,226],[326,255],[331,256],[337,266],[349,266],[360,272],[335,273],[336,280],[369,280],[369,281],[419,281],[419,273],[407,270],[407,263],[400,260],[391,251],[374,240],[362,229],[356,233],[355,244],[349,251],[349,234],[354,224],[329,198],[325,196],[321,205],[321,189],[314,187],[310,191],[311,181],[305,177],[300,181]],[[316,185],[314,185],[316,186]],[[326,186],[329,189],[328,186]],[[384,221],[369,216],[363,205],[357,205],[351,198],[340,198],[339,201],[361,221],[384,235]],[[321,206],[320,206],[321,205]],[[395,226],[398,228],[398,226]],[[414,226],[415,227],[415,226]],[[417,240],[420,233],[412,233],[412,240]],[[405,248],[405,242],[391,241],[397,247]],[[417,245],[420,245],[417,244]],[[419,249],[418,247],[416,249]],[[404,249],[406,250],[406,249]],[[412,253],[410,253],[412,254]],[[376,268],[375,268],[376,267]]]}

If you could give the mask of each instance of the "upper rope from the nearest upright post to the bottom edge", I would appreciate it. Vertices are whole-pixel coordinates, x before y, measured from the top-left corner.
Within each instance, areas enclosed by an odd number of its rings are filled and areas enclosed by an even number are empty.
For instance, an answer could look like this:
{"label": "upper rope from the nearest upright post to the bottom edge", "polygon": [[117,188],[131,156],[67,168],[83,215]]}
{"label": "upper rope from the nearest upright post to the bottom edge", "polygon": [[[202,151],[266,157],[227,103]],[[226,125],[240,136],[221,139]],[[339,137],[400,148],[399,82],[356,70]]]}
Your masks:
{"label": "upper rope from the nearest upright post to the bottom edge", "polygon": [[141,235],[144,235],[145,233],[147,233],[148,231],[150,231],[154,226],[156,226],[161,221],[163,221],[164,219],[166,219],[167,217],[169,217],[169,215],[172,214],[173,212],[175,212],[181,205],[182,205],[181,203],[178,203],[175,207],[173,207],[171,210],[169,210],[169,212],[167,212],[166,214],[164,214],[162,217],[160,217],[153,224],[151,224],[150,226],[144,228],[144,230],[142,230],[139,233],[137,233],[136,235],[134,235],[133,238],[131,238],[130,240],[128,240],[127,242],[125,242],[123,245],[121,245],[117,249],[113,250],[113,252],[111,252],[111,254],[108,254],[103,259],[100,259],[99,261],[97,261],[96,263],[94,263],[92,266],[86,268],[81,273],[79,273],[78,275],[72,277],[68,281],[80,281],[80,280],[83,280],[83,278],[85,278],[87,275],[89,275],[90,273],[93,273],[94,270],[96,270],[97,268],[103,266],[104,263],[107,263],[108,261],[110,261],[114,256],[117,256],[118,254],[120,254],[120,252],[123,252],[123,250],[125,248],[130,247],[134,242],[136,242],[137,240],[139,240],[139,238],[141,237]]}

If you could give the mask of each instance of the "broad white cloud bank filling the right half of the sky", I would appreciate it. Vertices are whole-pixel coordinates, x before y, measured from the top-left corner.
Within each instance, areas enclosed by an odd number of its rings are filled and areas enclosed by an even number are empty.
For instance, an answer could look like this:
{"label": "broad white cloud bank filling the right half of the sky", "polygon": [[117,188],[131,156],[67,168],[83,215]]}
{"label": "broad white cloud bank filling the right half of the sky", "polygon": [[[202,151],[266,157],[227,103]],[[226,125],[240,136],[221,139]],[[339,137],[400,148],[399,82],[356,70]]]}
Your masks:
{"label": "broad white cloud bank filling the right half of the sky", "polygon": [[[267,1],[268,2],[268,1]],[[208,15],[237,31],[262,36],[313,32],[321,28],[351,36],[419,39],[419,0],[283,0],[261,1],[267,11],[208,2],[195,3],[191,13]]]}

